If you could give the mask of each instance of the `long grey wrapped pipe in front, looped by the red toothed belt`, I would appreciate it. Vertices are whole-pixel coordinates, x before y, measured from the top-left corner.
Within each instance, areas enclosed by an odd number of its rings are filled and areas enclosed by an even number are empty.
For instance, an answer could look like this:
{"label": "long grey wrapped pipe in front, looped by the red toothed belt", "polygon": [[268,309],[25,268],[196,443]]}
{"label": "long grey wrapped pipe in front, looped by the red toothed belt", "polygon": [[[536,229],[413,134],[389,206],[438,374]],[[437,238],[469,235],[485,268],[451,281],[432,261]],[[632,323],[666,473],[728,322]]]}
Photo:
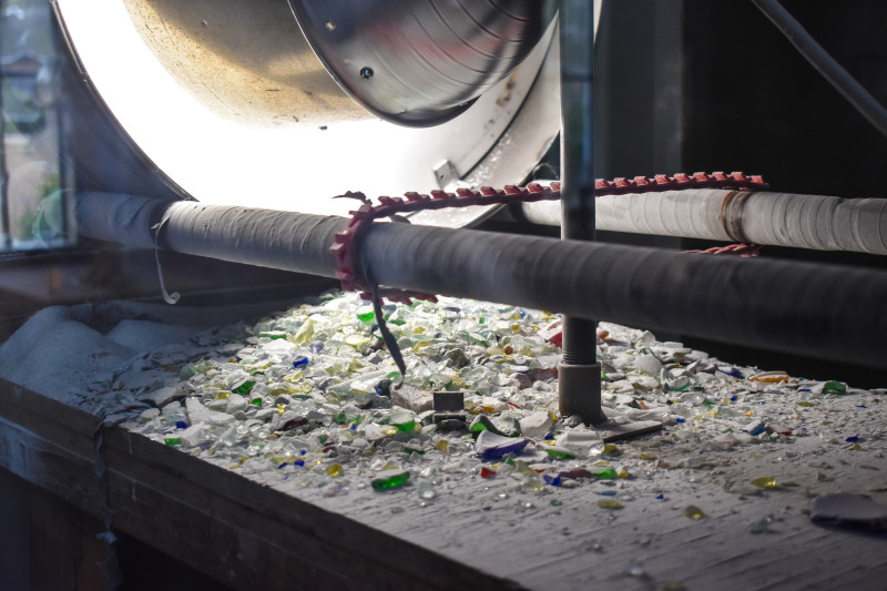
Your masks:
{"label": "long grey wrapped pipe in front, looped by the red toothed belt", "polygon": [[[84,195],[81,233],[149,246],[151,232],[140,224],[166,216],[162,247],[326,277],[336,272],[333,236],[348,223],[113,198],[132,215],[121,207],[112,221],[101,195]],[[385,285],[887,368],[887,273],[879,271],[409,224],[376,224],[359,248]]]}

